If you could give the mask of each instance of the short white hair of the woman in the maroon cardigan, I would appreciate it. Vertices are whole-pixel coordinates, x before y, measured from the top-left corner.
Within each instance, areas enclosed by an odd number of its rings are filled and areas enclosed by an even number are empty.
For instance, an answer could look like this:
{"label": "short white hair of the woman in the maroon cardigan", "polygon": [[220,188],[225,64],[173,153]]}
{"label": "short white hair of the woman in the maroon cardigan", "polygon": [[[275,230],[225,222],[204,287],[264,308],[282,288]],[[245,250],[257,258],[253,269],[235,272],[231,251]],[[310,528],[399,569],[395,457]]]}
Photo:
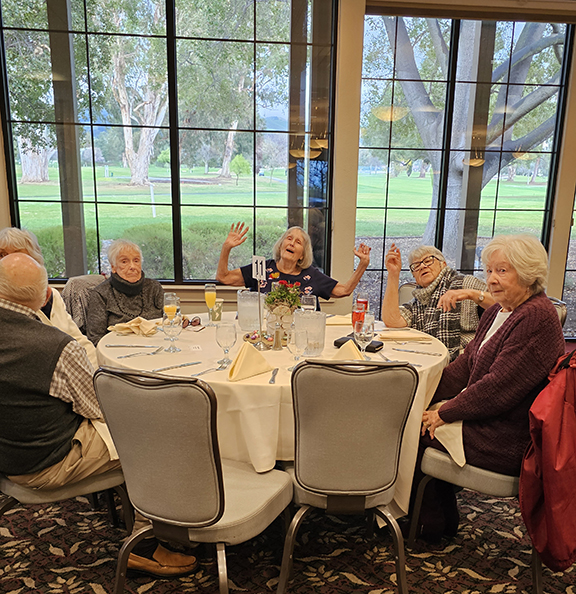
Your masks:
{"label": "short white hair of the woman in the maroon cardigan", "polygon": [[510,262],[520,282],[532,295],[544,291],[548,284],[548,254],[536,237],[527,234],[494,237],[482,250],[485,274],[488,262],[496,252]]}

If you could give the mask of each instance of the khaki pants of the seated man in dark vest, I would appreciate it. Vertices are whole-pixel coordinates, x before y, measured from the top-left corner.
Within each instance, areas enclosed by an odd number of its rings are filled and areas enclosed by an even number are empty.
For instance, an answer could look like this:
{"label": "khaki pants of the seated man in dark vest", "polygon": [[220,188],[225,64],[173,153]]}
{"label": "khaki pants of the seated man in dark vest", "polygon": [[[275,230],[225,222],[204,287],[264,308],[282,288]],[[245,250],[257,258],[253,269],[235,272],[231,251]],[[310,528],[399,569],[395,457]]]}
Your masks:
{"label": "khaki pants of the seated man in dark vest", "polygon": [[[74,434],[72,449],[60,462],[39,472],[8,478],[23,487],[55,489],[117,468],[121,468],[120,460],[110,460],[106,444],[92,423],[84,419]],[[148,525],[148,520],[135,511],[133,532]]]}

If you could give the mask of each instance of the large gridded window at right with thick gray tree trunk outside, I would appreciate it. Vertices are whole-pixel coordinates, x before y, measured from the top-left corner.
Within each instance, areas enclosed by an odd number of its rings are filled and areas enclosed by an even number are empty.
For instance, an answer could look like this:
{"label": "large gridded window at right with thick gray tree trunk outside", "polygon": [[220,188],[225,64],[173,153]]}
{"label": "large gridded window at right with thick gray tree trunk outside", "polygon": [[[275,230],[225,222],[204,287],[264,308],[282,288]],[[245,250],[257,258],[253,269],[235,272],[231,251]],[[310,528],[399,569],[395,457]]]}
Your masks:
{"label": "large gridded window at right with thick gray tree trunk outside", "polygon": [[367,15],[356,234],[363,290],[382,301],[384,256],[436,245],[481,269],[496,234],[546,245],[562,115],[566,25]]}

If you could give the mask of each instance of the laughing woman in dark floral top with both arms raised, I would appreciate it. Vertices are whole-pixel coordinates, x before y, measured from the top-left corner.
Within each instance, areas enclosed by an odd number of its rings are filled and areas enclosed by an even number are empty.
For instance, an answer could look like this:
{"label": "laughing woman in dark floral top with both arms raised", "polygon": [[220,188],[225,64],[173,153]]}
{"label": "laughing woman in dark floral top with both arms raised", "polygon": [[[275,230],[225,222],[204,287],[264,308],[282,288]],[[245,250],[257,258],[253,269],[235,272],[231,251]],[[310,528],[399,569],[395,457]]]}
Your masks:
{"label": "laughing woman in dark floral top with both arms raised", "polygon": [[[228,258],[232,248],[246,241],[248,227],[244,223],[233,224],[230,233],[222,245],[216,280],[237,287],[248,287],[257,290],[257,282],[252,278],[252,266],[242,266],[228,270]],[[354,255],[360,259],[358,268],[354,271],[348,282],[339,283],[312,266],[312,244],[310,236],[301,227],[290,227],[272,249],[273,260],[266,261],[267,279],[260,288],[269,292],[273,282],[285,280],[289,283],[299,282],[302,293],[316,295],[323,299],[330,297],[346,297],[351,295],[364,271],[370,264],[370,248],[363,243],[354,250]]]}

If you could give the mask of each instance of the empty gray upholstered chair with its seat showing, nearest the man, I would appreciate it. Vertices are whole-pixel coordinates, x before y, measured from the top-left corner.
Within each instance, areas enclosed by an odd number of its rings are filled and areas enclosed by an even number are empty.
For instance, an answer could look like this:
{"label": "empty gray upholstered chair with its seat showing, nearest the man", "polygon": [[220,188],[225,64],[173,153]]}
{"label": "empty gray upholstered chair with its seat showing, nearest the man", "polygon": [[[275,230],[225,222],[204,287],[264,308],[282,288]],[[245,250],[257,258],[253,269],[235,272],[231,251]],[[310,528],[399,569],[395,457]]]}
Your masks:
{"label": "empty gray upholstered chair with its seat showing, nearest the man", "polygon": [[124,590],[130,551],[153,532],[182,544],[215,543],[227,593],[226,544],[250,540],[287,510],[289,475],[220,458],[216,397],[200,379],[104,367],[94,386],[130,499],[152,521],[122,546],[114,592]]}

